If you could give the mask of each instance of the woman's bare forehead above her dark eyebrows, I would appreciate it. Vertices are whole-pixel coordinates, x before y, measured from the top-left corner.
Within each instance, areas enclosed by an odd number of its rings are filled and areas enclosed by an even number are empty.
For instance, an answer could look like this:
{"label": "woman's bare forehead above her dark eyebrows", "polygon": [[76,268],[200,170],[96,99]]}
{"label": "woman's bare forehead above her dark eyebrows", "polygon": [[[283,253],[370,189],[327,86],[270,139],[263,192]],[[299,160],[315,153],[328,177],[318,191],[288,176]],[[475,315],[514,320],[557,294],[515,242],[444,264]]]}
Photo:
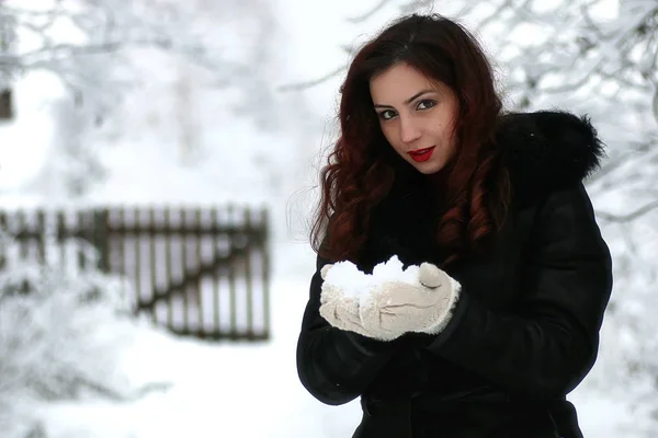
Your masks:
{"label": "woman's bare forehead above her dark eyebrows", "polygon": [[375,103],[400,104],[427,89],[439,90],[439,87],[407,64],[395,65],[370,81]]}

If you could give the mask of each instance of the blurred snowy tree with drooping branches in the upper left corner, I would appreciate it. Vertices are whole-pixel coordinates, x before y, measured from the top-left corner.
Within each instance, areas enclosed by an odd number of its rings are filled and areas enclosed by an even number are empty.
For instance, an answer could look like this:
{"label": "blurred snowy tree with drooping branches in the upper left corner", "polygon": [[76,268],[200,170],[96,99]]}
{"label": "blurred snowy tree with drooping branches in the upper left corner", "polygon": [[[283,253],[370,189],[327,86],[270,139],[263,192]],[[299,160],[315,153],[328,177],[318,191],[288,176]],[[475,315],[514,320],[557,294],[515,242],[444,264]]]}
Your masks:
{"label": "blurred snowy tree with drooping branches in the upper left corner", "polygon": [[206,68],[217,83],[228,82],[241,69],[206,49],[207,42],[196,33],[197,12],[179,4],[164,0],[0,3],[8,47],[0,53],[0,89],[36,71],[53,74],[64,85],[50,108],[52,157],[33,186],[76,197],[102,178],[103,166],[90,136],[135,83],[126,49],[148,47],[181,57]]}

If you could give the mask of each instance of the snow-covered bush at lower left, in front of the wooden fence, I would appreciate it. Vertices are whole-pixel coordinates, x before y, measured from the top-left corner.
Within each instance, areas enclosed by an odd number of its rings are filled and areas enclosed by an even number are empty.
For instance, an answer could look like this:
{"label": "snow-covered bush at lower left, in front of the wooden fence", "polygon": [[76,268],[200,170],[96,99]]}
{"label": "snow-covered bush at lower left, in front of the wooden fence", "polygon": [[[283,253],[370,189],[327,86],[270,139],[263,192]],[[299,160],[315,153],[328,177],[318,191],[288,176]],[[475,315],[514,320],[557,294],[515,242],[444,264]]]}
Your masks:
{"label": "snow-covered bush at lower left, in front of the wooden fence", "polygon": [[70,240],[63,251],[53,227],[41,237],[39,246],[38,257],[29,258],[24,244],[0,231],[3,436],[43,434],[35,402],[121,402],[163,388],[133,388],[121,371],[122,351],[138,330],[126,283],[95,268],[98,253],[88,242]]}

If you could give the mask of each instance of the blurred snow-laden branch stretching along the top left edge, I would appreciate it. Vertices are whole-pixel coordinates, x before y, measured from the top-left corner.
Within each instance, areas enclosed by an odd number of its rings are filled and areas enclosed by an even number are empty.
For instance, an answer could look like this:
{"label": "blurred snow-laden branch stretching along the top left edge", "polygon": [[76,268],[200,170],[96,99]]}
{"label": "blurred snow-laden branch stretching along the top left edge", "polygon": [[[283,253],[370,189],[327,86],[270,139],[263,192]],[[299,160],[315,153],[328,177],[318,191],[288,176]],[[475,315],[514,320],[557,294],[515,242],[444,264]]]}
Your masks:
{"label": "blurred snow-laden branch stretching along the top left edge", "polygon": [[208,54],[193,32],[193,15],[166,2],[61,0],[45,10],[12,3],[0,4],[0,26],[21,36],[0,53],[0,70],[9,78],[35,69],[58,74],[63,60],[135,46],[177,53],[218,72],[237,67]]}

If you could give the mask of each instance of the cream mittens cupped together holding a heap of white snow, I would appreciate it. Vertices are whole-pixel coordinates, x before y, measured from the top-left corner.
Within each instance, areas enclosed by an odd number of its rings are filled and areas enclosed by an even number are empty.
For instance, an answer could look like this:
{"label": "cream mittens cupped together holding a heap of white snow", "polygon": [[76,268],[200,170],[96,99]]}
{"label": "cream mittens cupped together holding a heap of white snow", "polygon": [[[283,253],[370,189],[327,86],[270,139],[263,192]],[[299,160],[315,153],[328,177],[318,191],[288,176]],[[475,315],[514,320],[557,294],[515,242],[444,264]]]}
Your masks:
{"label": "cream mittens cupped together holding a heap of white snow", "polygon": [[402,268],[397,256],[364,274],[349,262],[327,265],[319,313],[333,327],[393,341],[405,333],[438,334],[447,325],[461,285],[439,267]]}

